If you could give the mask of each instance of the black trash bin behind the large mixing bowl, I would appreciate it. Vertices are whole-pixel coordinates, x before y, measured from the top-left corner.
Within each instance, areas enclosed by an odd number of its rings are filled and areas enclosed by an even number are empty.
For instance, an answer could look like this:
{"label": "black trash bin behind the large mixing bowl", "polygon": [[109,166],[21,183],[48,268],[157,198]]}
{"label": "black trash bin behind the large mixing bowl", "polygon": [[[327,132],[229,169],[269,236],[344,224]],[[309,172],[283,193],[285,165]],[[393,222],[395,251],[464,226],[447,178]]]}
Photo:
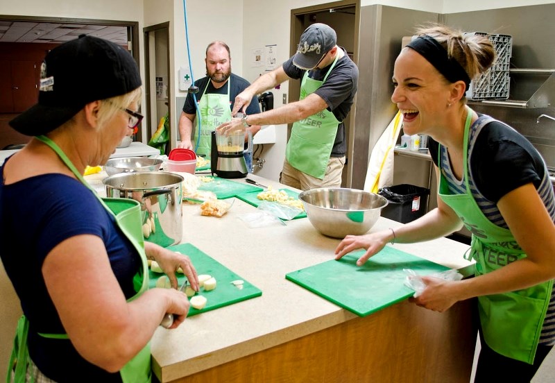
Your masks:
{"label": "black trash bin behind the large mixing bowl", "polygon": [[382,216],[401,223],[409,223],[426,214],[429,189],[401,184],[382,187],[377,194],[387,198]]}

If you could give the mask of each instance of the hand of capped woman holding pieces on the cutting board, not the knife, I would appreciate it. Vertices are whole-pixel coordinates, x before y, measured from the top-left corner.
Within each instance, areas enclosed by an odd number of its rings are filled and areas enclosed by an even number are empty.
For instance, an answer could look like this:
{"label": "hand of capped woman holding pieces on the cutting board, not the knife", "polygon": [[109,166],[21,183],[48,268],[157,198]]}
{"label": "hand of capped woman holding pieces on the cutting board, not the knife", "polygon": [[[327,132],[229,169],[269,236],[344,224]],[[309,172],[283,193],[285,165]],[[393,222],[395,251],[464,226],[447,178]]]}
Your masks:
{"label": "hand of capped woman holding pieces on the cutting board, not the knife", "polygon": [[178,278],[176,277],[176,273],[178,269],[181,268],[187,280],[189,280],[189,284],[191,284],[191,289],[198,291],[200,288],[198,275],[191,259],[189,259],[187,255],[176,253],[175,251],[171,251],[148,241],[144,242],[144,250],[146,257],[158,262],[162,271],[168,275],[173,289],[178,289]]}

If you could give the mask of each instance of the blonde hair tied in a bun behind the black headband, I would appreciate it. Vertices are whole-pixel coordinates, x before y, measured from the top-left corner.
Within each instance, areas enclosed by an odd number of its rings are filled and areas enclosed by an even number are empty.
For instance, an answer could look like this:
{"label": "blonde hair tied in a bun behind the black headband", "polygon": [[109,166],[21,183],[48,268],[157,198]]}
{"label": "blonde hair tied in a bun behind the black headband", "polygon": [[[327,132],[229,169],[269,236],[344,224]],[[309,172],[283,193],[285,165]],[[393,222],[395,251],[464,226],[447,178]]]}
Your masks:
{"label": "blonde hair tied in a bun behind the black headband", "polygon": [[416,35],[433,37],[454,58],[473,80],[487,71],[495,62],[497,55],[492,42],[485,35],[464,33],[441,24],[425,24],[418,27]]}

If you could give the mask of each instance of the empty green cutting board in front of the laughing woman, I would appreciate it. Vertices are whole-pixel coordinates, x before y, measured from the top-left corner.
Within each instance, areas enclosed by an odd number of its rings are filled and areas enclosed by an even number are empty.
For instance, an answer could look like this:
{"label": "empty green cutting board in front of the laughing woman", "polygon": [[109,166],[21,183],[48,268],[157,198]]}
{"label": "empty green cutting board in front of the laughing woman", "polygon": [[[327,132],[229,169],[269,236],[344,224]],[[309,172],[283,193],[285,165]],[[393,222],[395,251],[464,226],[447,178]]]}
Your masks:
{"label": "empty green cutting board in front of the laughing woman", "polygon": [[414,291],[404,286],[407,275],[403,269],[412,269],[418,275],[448,269],[391,246],[384,247],[363,266],[357,266],[364,251],[293,271],[285,278],[350,312],[367,316],[413,296]]}

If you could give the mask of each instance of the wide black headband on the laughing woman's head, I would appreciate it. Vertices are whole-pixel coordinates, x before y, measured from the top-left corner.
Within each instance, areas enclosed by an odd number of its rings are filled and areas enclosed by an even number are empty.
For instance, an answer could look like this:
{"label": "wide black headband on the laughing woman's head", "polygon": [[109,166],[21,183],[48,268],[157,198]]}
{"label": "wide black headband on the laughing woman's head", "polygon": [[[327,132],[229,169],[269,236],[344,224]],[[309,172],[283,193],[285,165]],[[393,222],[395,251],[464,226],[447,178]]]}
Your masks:
{"label": "wide black headband on the laughing woman's head", "polygon": [[457,60],[447,55],[443,45],[434,39],[434,37],[427,35],[418,36],[409,42],[407,46],[420,53],[423,58],[434,65],[439,73],[443,74],[451,83],[463,80],[466,84],[466,90],[468,90],[470,77],[468,77],[468,74],[466,74],[466,71]]}

